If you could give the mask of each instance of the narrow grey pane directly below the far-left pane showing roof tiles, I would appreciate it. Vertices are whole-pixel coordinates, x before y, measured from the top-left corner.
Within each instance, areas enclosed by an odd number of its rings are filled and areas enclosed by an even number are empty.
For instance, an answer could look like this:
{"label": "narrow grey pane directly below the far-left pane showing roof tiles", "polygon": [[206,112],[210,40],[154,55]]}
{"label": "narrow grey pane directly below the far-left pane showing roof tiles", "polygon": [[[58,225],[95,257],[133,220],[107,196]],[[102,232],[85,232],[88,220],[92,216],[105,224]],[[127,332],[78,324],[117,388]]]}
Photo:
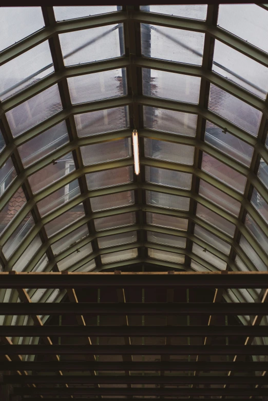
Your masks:
{"label": "narrow grey pane directly below the far-left pane showing roof tiles", "polygon": [[6,259],[8,259],[14,250],[20,245],[23,238],[28,234],[30,229],[33,227],[34,221],[31,213],[28,213],[25,219],[20,225],[13,231],[12,235],[7,240],[6,244],[3,246],[2,251]]}

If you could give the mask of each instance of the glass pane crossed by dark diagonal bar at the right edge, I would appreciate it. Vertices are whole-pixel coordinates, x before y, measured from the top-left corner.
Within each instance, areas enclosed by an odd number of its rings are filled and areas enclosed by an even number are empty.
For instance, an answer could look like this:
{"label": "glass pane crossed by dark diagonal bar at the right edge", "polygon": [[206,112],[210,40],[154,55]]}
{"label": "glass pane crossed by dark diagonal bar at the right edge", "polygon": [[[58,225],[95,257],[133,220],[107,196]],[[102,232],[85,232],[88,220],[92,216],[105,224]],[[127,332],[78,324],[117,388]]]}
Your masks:
{"label": "glass pane crossed by dark diagonal bar at the right edge", "polygon": [[215,41],[213,59],[213,71],[265,99],[268,91],[266,67],[219,41]]}

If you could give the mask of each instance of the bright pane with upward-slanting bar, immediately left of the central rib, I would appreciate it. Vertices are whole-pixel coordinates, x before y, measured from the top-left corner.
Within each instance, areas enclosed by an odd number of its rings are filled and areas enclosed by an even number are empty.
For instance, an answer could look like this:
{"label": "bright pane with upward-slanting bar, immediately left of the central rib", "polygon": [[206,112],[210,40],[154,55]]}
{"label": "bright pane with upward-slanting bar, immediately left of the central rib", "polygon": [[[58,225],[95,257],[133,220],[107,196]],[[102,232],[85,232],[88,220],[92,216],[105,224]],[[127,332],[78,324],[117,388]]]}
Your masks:
{"label": "bright pane with upward-slanting bar, immediately left of the central rib", "polygon": [[123,24],[104,25],[60,34],[65,66],[120,57],[119,32],[122,28]]}

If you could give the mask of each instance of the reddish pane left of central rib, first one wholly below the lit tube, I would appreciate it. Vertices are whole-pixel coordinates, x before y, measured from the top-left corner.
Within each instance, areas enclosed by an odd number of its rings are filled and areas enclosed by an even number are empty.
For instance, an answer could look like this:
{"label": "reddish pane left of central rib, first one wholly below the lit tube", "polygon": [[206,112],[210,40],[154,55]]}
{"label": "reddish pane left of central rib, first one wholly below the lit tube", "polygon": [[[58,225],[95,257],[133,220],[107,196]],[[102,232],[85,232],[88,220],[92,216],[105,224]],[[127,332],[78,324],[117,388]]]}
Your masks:
{"label": "reddish pane left of central rib, first one wholly below the lit tube", "polygon": [[93,212],[98,210],[106,210],[119,208],[122,206],[133,205],[134,191],[126,191],[119,193],[111,193],[109,195],[96,196],[90,198],[91,208]]}

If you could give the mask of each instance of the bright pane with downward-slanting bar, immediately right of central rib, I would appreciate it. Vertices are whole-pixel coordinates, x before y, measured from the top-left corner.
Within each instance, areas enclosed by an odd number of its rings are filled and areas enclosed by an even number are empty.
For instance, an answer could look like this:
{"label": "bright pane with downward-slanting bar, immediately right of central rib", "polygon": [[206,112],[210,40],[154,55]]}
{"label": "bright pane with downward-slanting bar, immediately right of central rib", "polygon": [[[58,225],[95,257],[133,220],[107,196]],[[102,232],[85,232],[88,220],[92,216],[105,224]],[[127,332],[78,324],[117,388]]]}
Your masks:
{"label": "bright pane with downward-slanting bar, immediately right of central rib", "polygon": [[202,64],[205,34],[141,24],[142,54],[188,64]]}

